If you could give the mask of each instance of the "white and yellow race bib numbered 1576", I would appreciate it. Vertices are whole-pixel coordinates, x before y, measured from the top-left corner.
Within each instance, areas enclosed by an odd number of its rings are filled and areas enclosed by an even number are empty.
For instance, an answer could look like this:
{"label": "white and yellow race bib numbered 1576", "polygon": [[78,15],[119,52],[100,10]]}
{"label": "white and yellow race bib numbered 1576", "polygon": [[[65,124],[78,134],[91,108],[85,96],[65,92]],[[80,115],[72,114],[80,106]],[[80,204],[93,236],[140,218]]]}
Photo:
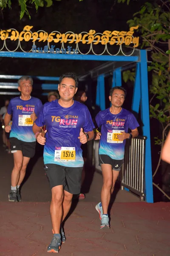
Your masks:
{"label": "white and yellow race bib numbered 1576", "polygon": [[54,161],[76,161],[76,150],[73,147],[56,147]]}

